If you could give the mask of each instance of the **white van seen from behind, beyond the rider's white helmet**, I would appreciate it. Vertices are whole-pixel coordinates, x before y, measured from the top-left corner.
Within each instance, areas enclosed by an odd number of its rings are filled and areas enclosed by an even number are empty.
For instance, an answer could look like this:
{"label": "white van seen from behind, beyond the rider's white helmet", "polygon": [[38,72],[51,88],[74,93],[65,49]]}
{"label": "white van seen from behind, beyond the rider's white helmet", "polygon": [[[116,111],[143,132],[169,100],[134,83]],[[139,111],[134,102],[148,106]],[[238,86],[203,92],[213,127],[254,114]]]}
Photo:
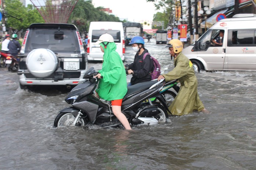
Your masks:
{"label": "white van seen from behind, beyond the rider's white helmet", "polygon": [[122,61],[125,59],[125,39],[122,22],[91,22],[88,32],[87,58],[88,61],[102,60],[103,54],[100,45],[94,43],[98,41],[100,35],[110,34],[114,38],[117,49]]}

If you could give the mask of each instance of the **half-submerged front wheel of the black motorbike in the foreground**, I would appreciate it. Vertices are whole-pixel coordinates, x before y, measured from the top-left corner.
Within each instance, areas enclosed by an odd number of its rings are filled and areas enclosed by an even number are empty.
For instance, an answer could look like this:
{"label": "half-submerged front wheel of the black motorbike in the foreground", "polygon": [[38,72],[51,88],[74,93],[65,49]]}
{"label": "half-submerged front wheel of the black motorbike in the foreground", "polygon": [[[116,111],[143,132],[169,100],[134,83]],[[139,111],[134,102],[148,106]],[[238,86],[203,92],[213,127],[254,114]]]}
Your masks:
{"label": "half-submerged front wheel of the black motorbike in the foreground", "polygon": [[[59,113],[54,120],[54,127],[58,126],[72,126],[76,117],[72,113]],[[87,124],[85,118],[79,118],[76,126],[84,126]]]}

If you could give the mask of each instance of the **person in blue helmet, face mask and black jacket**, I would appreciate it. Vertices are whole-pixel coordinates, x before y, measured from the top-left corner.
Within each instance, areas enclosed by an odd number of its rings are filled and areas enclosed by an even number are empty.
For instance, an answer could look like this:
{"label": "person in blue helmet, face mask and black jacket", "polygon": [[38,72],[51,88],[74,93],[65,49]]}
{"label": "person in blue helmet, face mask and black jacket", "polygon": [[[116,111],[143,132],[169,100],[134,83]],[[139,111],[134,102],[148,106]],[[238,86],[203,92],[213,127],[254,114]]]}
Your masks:
{"label": "person in blue helmet, face mask and black jacket", "polygon": [[125,65],[125,68],[128,70],[127,73],[132,74],[131,82],[128,86],[151,81],[150,73],[154,70],[154,63],[150,54],[146,55],[143,59],[144,54],[148,53],[148,50],[144,47],[144,39],[140,36],[134,36],[129,44],[132,45],[132,49],[134,49],[136,54],[134,62]]}

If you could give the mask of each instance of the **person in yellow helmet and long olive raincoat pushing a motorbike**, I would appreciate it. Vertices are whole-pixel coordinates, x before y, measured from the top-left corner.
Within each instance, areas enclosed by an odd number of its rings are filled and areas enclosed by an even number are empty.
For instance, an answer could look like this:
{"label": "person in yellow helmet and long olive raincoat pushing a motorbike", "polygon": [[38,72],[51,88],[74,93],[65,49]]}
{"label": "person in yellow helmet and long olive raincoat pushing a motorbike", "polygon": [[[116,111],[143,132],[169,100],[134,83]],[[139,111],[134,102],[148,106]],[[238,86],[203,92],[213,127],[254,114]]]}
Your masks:
{"label": "person in yellow helmet and long olive raincoat pushing a motorbike", "polygon": [[180,82],[180,90],[171,106],[169,106],[169,110],[173,115],[177,116],[192,113],[193,110],[208,113],[197,92],[197,78],[193,64],[182,54],[182,42],[179,39],[172,39],[165,47],[169,48],[169,53],[174,57],[175,67],[167,74],[160,75],[158,81],[165,79],[166,82],[170,82],[178,79]]}

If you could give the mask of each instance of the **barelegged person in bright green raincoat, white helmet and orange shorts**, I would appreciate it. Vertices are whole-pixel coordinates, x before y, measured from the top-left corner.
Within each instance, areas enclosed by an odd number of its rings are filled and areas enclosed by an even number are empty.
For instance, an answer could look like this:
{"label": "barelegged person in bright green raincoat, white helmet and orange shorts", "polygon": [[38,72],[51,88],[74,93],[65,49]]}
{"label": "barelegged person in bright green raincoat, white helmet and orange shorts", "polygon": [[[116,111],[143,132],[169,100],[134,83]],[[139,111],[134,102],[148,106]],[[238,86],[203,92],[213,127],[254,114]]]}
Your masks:
{"label": "barelegged person in bright green raincoat, white helmet and orange shorts", "polygon": [[131,126],[121,112],[122,99],[127,93],[126,73],[121,57],[116,52],[114,38],[110,34],[103,34],[95,44],[99,44],[104,53],[102,69],[94,76],[99,78],[96,95],[106,101],[111,101],[114,115],[125,129],[130,130]]}

